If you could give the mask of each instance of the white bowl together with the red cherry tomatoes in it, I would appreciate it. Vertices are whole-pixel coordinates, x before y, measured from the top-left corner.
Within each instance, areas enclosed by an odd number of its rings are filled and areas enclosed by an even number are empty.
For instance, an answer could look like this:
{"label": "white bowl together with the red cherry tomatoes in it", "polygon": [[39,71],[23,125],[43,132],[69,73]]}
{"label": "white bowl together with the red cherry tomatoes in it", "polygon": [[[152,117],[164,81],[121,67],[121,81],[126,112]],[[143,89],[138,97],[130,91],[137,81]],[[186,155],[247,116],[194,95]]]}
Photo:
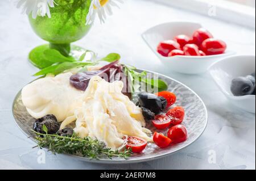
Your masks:
{"label": "white bowl together with the red cherry tomatoes in it", "polygon": [[142,34],[148,47],[164,66],[184,74],[205,73],[212,64],[234,54],[199,23],[170,22]]}

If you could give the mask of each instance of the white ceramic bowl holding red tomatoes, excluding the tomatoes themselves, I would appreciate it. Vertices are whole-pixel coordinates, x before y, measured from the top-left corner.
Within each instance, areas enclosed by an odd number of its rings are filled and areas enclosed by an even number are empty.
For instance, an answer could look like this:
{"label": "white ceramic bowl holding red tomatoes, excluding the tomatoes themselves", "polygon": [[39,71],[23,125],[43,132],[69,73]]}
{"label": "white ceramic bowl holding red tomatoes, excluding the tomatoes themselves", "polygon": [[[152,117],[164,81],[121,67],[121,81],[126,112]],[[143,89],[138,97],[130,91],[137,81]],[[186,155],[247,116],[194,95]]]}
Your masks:
{"label": "white ceramic bowl holding red tomatoes, excluding the tomatoes themselves", "polygon": [[158,56],[164,66],[167,66],[173,71],[184,74],[200,74],[205,73],[208,68],[216,61],[221,60],[225,56],[234,54],[233,52],[226,51],[224,54],[218,54],[214,56],[174,56],[164,57],[156,51],[156,48],[160,41],[174,39],[177,35],[192,36],[193,32],[201,28],[199,23],[191,22],[170,22],[160,24],[152,27],[142,34],[143,40],[148,47]]}

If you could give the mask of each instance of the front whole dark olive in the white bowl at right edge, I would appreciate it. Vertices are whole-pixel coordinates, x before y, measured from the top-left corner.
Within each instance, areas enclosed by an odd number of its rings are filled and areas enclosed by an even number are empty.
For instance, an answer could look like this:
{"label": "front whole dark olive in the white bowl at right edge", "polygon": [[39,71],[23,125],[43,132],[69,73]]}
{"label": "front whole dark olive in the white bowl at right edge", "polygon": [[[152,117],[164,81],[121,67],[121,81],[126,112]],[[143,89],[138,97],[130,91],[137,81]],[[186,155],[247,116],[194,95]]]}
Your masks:
{"label": "front whole dark olive in the white bowl at right edge", "polygon": [[238,77],[233,79],[231,91],[235,96],[251,95],[254,92],[254,85],[249,78]]}

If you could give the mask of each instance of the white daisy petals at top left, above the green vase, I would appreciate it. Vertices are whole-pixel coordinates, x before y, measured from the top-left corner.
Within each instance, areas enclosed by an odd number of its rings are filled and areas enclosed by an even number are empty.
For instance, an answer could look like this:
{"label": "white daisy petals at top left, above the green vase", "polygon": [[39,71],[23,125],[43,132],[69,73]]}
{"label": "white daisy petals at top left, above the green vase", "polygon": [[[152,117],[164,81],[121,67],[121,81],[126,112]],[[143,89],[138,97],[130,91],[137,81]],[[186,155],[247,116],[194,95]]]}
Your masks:
{"label": "white daisy petals at top left, above the green vase", "polygon": [[32,18],[36,16],[48,16],[51,18],[49,7],[54,7],[54,0],[19,0],[17,7],[23,7],[23,12],[29,15],[32,12]]}

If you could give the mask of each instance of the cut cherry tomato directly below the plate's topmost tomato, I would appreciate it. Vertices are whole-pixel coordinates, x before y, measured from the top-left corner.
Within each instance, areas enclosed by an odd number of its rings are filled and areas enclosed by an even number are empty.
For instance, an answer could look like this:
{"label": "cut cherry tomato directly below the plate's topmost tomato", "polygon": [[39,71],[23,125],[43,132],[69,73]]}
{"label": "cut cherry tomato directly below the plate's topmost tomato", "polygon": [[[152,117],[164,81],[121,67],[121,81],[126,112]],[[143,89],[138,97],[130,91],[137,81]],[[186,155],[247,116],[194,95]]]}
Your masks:
{"label": "cut cherry tomato directly below the plate's topmost tomato", "polygon": [[185,110],[183,107],[177,106],[169,110],[166,115],[170,117],[172,125],[181,124],[185,117]]}

